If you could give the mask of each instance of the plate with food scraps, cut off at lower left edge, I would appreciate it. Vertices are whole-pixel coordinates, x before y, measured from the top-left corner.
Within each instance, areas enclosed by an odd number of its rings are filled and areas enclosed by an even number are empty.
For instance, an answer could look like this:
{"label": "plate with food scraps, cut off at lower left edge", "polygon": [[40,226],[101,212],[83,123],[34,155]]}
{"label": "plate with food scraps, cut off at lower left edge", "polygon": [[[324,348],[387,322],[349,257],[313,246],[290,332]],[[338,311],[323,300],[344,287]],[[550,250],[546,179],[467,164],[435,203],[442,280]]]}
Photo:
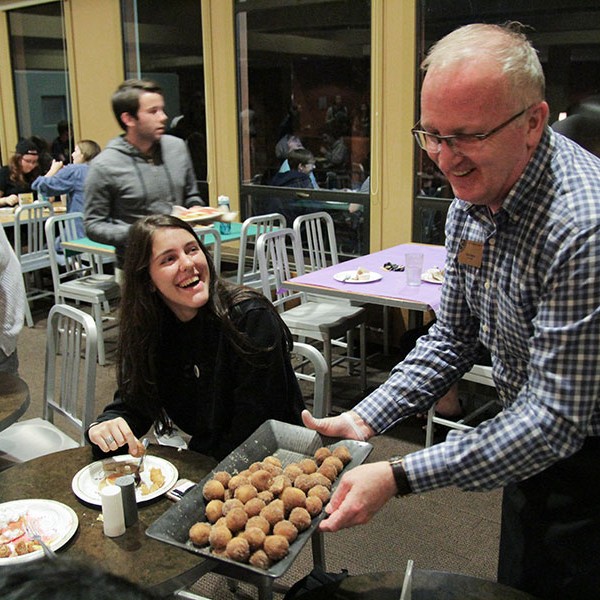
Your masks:
{"label": "plate with food scraps, cut off at lower left edge", "polygon": [[[64,546],[75,534],[79,519],[75,511],[55,500],[24,499],[0,504],[0,568],[43,558],[37,532],[52,550]],[[28,531],[29,530],[29,531]]]}

